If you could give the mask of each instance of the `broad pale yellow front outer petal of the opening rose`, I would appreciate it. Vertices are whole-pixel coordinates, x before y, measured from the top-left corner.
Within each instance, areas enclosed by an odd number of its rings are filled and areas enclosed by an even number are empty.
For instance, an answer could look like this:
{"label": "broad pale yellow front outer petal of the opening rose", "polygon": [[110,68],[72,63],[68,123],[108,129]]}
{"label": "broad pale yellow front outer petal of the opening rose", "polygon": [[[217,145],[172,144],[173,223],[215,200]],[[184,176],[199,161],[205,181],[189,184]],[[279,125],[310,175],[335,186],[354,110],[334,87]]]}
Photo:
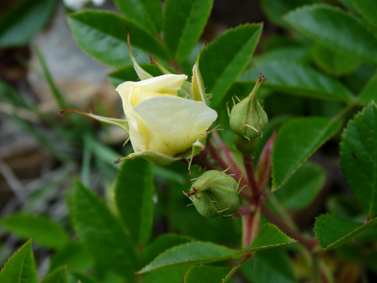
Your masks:
{"label": "broad pale yellow front outer petal of the opening rose", "polygon": [[147,149],[168,155],[189,149],[217,118],[205,103],[178,96],[150,98],[131,111],[147,139]]}

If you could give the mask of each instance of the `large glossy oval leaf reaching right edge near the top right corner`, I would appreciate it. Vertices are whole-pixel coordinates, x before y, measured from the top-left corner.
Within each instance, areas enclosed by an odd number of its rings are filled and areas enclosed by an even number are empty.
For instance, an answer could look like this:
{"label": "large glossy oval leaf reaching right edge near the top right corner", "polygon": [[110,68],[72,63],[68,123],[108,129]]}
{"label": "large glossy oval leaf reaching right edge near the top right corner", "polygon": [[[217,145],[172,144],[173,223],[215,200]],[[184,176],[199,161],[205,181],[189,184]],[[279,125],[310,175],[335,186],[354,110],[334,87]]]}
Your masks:
{"label": "large glossy oval leaf reaching right edge near the top right corner", "polygon": [[312,40],[366,63],[377,63],[377,39],[357,18],[328,5],[297,8],[284,17]]}

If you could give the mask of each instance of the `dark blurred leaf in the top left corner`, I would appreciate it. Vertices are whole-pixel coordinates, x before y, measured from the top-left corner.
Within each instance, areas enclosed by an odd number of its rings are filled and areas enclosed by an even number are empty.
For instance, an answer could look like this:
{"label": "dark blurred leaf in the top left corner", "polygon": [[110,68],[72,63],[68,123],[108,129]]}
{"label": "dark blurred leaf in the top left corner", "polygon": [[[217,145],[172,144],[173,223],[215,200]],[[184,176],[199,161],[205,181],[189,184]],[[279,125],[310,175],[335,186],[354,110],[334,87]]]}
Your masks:
{"label": "dark blurred leaf in the top left corner", "polygon": [[0,46],[26,45],[46,25],[54,0],[25,0],[9,9],[0,21]]}

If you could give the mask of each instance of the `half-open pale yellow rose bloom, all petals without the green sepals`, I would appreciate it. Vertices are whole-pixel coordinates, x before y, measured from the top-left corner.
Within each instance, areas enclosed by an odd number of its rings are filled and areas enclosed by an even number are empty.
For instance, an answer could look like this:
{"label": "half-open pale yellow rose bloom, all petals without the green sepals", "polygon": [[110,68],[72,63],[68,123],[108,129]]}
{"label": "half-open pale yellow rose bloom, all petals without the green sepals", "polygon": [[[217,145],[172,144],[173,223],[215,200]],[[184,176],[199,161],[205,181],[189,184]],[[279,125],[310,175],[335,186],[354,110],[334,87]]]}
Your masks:
{"label": "half-open pale yellow rose bloom, all petals without the green sepals", "polygon": [[174,156],[191,148],[216,120],[216,111],[204,102],[177,95],[186,78],[166,74],[116,88],[135,152],[149,149]]}

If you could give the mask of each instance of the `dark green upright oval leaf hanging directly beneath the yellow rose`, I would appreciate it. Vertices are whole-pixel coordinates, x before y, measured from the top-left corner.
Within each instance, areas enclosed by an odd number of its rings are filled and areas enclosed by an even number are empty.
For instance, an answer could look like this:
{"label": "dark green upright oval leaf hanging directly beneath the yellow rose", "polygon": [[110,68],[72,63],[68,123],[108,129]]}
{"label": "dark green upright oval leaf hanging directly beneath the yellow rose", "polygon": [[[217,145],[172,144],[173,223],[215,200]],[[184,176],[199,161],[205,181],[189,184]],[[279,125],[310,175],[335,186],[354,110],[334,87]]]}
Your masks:
{"label": "dark green upright oval leaf hanging directly beneath the yellow rose", "polygon": [[124,162],[115,182],[115,203],[120,219],[135,244],[145,245],[152,233],[152,164],[144,159]]}

